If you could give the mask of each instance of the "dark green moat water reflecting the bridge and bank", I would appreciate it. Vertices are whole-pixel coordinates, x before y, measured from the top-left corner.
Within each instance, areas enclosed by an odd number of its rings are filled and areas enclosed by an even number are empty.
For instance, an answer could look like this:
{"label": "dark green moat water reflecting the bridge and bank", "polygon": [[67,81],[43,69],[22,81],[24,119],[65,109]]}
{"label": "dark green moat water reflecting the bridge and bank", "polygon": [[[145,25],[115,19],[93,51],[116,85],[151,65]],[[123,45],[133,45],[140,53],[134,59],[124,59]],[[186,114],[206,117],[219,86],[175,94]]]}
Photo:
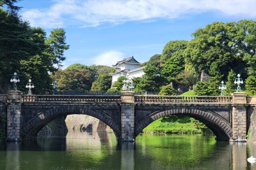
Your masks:
{"label": "dark green moat water reflecting the bridge and bank", "polygon": [[210,134],[140,134],[118,143],[113,133],[0,143],[1,170],[253,170],[256,144],[216,141]]}

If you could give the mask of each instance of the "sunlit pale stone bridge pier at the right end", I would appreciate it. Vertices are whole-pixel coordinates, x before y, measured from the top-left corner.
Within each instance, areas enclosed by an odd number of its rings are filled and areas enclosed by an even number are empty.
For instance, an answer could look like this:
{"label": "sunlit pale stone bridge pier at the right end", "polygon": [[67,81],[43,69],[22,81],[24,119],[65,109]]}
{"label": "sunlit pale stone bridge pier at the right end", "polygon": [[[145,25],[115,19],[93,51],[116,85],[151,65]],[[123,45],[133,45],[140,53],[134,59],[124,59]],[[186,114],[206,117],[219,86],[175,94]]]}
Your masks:
{"label": "sunlit pale stone bridge pier at the right end", "polygon": [[246,95],[247,93],[232,93],[232,142],[246,142]]}

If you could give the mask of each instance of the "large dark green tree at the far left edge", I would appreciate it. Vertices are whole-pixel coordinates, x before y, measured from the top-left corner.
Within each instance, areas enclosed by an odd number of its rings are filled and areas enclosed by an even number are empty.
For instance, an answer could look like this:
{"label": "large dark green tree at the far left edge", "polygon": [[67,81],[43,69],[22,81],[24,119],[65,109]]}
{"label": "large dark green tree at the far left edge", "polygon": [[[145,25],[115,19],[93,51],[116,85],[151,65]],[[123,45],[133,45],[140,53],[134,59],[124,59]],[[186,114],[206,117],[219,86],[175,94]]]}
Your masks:
{"label": "large dark green tree at the far left edge", "polygon": [[[20,73],[20,60],[26,60],[39,50],[33,43],[33,32],[28,22],[22,22],[16,15],[10,15],[0,8],[0,77],[4,73]],[[21,73],[22,74],[22,73]]]}

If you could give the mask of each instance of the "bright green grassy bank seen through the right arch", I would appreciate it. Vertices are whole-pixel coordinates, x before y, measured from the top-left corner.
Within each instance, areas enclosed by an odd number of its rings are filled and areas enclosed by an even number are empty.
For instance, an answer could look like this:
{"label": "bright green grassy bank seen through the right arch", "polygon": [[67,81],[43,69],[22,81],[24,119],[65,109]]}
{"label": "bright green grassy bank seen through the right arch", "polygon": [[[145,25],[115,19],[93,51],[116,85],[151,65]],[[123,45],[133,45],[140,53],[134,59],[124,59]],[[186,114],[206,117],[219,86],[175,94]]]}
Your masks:
{"label": "bright green grassy bank seen through the right arch", "polygon": [[182,115],[162,117],[142,130],[144,133],[209,133],[212,132],[203,123]]}

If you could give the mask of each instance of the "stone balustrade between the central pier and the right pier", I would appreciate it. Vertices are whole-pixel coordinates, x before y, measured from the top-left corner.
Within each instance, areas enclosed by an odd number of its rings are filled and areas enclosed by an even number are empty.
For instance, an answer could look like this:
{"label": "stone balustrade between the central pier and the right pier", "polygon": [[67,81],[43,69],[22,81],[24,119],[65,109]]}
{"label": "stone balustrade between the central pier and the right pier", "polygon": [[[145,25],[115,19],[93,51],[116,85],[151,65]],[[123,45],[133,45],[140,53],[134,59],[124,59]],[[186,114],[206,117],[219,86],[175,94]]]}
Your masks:
{"label": "stone balustrade between the central pier and the right pier", "polygon": [[134,95],[135,103],[231,103],[232,96],[144,96]]}

